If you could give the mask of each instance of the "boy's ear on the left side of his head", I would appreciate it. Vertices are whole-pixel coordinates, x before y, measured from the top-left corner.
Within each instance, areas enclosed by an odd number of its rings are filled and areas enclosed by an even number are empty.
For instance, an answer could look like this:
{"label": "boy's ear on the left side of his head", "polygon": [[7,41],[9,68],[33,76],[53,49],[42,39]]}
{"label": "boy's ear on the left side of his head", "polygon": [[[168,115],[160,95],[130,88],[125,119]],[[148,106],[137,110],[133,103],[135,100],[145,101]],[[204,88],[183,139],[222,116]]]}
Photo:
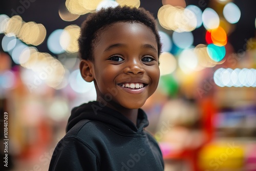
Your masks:
{"label": "boy's ear on the left side of his head", "polygon": [[94,80],[93,76],[93,63],[90,60],[82,59],[80,61],[80,72],[81,76],[87,82],[92,82]]}

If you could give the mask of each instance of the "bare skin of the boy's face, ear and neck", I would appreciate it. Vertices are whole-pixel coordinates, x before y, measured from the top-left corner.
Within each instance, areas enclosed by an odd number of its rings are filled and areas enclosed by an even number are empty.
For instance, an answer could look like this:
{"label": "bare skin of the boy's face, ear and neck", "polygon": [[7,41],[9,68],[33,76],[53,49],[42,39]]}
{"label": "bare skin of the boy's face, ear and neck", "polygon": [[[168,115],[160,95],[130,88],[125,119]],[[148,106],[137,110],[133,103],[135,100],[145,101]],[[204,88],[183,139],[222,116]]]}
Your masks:
{"label": "bare skin of the boy's face, ear and neck", "polygon": [[143,24],[119,22],[98,37],[94,60],[80,62],[81,75],[94,81],[97,101],[136,125],[138,109],[156,91],[160,77],[155,34]]}

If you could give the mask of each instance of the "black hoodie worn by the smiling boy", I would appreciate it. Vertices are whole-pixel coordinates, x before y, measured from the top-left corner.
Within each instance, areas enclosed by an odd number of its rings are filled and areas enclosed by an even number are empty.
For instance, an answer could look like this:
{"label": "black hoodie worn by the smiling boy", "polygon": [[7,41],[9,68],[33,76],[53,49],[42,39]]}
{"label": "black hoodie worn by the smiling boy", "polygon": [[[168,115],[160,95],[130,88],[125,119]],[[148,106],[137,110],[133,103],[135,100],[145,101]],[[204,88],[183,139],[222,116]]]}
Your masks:
{"label": "black hoodie worn by the smiling boy", "polygon": [[67,134],[55,147],[49,170],[161,171],[162,154],[144,130],[147,125],[141,109],[136,126],[97,101],[82,104],[72,110]]}

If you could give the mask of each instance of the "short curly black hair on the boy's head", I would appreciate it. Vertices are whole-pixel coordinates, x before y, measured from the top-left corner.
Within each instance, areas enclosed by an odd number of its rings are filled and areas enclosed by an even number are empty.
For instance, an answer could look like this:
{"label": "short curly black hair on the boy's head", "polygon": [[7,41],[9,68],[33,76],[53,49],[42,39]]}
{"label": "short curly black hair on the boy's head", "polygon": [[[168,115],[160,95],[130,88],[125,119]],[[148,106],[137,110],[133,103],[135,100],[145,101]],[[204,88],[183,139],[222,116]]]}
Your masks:
{"label": "short curly black hair on the boy's head", "polygon": [[118,22],[141,23],[150,28],[156,36],[158,57],[160,56],[162,44],[154,16],[144,8],[117,6],[102,8],[98,12],[90,14],[84,20],[78,39],[79,57],[93,61],[93,50],[99,39],[99,33]]}

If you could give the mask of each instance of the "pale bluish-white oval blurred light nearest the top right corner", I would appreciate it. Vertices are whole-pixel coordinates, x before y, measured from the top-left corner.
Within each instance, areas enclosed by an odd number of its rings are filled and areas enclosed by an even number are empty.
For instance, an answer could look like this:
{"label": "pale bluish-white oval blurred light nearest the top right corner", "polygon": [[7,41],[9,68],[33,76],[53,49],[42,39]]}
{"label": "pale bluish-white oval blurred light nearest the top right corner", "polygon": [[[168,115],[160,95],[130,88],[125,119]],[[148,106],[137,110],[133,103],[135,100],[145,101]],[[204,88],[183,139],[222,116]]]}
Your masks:
{"label": "pale bluish-white oval blurred light nearest the top right corner", "polygon": [[234,24],[238,23],[241,17],[241,11],[236,4],[228,3],[223,8],[223,15],[229,23]]}

